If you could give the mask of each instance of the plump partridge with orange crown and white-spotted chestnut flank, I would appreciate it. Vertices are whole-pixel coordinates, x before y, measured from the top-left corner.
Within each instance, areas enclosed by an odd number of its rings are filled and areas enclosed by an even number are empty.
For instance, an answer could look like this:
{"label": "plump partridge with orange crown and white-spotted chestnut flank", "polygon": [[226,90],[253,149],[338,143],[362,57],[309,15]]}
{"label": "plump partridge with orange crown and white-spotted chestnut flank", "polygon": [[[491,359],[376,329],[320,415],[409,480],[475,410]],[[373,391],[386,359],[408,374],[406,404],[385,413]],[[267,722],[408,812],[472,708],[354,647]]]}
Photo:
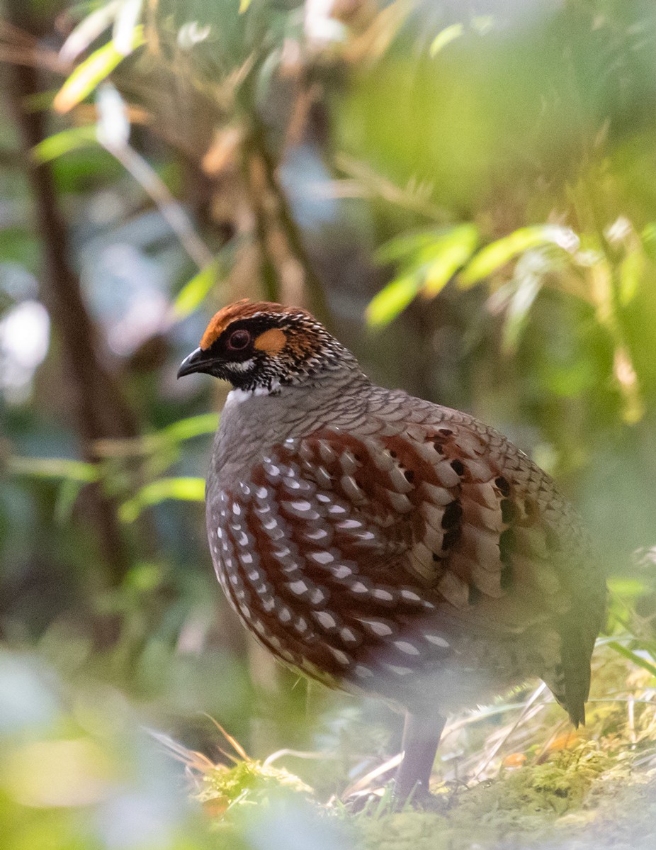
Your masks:
{"label": "plump partridge with orange crown and white-spotted chestnut flank", "polygon": [[305,309],[244,299],[178,377],[232,384],[206,479],[212,561],[278,660],[404,712],[397,801],[446,717],[540,677],[585,723],[605,582],[547,473],[495,428],[376,386]]}

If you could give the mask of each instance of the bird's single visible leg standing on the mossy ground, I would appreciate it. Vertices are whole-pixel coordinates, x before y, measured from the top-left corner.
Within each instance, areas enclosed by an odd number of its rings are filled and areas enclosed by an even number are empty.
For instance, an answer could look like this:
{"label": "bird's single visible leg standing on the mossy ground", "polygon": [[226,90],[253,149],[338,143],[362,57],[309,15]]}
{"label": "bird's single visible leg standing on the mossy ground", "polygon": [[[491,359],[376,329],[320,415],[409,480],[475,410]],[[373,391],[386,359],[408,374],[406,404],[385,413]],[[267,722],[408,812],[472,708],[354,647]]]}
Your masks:
{"label": "bird's single visible leg standing on the mossy ground", "polygon": [[398,802],[405,802],[413,791],[413,799],[427,796],[444,723],[446,719],[439,714],[406,712],[401,745],[403,761],[394,780],[394,796]]}

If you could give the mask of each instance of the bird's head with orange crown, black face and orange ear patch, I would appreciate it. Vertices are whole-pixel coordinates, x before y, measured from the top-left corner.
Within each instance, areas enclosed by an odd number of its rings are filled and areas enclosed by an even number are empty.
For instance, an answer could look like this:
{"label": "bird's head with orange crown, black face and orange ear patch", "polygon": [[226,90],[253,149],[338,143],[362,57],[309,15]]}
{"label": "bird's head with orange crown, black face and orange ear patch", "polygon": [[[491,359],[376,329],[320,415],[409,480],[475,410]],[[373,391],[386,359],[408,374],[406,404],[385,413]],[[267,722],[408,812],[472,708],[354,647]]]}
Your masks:
{"label": "bird's head with orange crown, black face and orange ear patch", "polygon": [[206,372],[236,389],[269,394],[344,367],[358,368],[353,354],[306,310],[245,299],[212,317],[178,377]]}

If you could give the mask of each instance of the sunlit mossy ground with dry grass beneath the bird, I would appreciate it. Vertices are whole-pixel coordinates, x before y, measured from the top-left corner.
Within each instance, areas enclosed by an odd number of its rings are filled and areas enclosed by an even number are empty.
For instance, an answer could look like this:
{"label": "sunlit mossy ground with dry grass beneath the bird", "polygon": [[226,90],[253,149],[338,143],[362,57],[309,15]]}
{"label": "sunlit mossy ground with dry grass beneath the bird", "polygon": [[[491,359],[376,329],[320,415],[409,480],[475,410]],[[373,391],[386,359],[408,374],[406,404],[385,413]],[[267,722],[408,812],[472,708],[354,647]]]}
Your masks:
{"label": "sunlit mossy ground with dry grass beneath the bird", "polygon": [[[654,850],[653,676],[605,647],[593,682],[575,733],[543,688],[452,723],[440,749],[458,752],[458,776],[441,762],[437,811],[395,813],[387,792],[353,814],[284,769],[247,760],[203,770],[196,796],[230,850]],[[509,707],[515,717],[500,725]]]}

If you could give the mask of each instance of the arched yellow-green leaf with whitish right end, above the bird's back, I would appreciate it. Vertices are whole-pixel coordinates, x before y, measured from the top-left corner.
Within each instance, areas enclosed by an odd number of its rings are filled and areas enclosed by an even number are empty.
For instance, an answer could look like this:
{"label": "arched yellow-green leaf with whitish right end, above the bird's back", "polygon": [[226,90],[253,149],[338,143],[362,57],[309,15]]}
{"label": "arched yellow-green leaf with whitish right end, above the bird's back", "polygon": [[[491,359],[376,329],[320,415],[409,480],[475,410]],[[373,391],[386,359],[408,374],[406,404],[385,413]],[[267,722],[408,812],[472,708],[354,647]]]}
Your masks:
{"label": "arched yellow-green leaf with whitish right end, above the bird's back", "polygon": [[556,224],[535,224],[515,230],[503,239],[482,248],[467,267],[458,275],[458,282],[463,289],[489,277],[501,266],[509,263],[529,248],[541,245],[556,245],[564,251],[573,253],[579,247],[579,237],[568,227]]}

